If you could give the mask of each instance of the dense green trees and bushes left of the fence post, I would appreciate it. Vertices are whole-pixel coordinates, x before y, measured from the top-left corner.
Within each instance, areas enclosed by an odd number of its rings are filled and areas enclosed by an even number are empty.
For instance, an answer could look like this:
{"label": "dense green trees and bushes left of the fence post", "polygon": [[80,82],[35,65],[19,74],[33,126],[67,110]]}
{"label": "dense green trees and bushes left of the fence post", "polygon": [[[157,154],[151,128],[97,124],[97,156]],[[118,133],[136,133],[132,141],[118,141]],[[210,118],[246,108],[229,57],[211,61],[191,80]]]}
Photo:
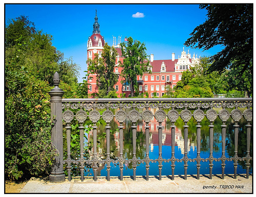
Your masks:
{"label": "dense green trees and bushes left of the fence post", "polygon": [[73,80],[63,78],[60,86],[65,90],[72,86],[73,92],[65,96],[74,97],[76,68],[72,62],[62,62],[52,36],[36,31],[27,17],[9,21],[5,32],[5,178],[47,176],[57,154],[51,144],[51,73],[66,68],[62,77]]}

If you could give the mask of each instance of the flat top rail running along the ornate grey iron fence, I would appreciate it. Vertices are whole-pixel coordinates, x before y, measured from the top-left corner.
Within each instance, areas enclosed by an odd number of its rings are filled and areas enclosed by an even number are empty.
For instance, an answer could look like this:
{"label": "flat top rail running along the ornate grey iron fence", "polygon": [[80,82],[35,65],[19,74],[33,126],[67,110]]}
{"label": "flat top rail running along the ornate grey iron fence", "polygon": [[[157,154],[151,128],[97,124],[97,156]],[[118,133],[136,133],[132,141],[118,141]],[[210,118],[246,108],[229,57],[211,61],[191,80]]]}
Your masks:
{"label": "flat top rail running along the ornate grey iron fence", "polygon": [[125,99],[62,99],[62,102],[175,102],[175,101],[252,101],[252,98],[125,98]]}

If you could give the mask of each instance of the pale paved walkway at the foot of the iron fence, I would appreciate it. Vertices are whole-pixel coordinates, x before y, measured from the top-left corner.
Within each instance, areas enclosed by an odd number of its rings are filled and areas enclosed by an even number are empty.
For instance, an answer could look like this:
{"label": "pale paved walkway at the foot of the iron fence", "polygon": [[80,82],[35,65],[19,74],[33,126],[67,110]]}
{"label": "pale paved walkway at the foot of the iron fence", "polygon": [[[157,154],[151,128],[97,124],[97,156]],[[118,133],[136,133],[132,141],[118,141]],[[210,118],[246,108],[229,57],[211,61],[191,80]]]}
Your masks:
{"label": "pale paved walkway at the foot of the iron fence", "polygon": [[169,176],[163,176],[161,181],[156,176],[149,181],[144,176],[136,177],[136,181],[130,176],[123,181],[118,177],[111,177],[110,181],[98,177],[96,182],[93,177],[85,177],[83,182],[74,178],[63,183],[31,178],[20,193],[252,193],[252,176],[233,179],[227,175],[224,180],[219,175],[212,176],[212,180],[207,175],[201,175],[200,180],[196,176],[188,176],[187,180],[175,176],[174,181]]}

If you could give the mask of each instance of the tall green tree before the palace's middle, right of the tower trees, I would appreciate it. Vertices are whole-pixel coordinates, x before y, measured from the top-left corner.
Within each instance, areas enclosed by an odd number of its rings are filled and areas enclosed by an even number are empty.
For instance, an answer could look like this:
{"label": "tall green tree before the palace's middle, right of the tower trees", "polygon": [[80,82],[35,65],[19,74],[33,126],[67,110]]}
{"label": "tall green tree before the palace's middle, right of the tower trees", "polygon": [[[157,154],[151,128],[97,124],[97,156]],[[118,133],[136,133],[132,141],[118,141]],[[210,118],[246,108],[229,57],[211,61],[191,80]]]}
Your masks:
{"label": "tall green tree before the palace's middle, right of the tower trees", "polygon": [[146,55],[146,47],[144,43],[138,40],[133,40],[132,37],[127,38],[127,42],[120,44],[122,56],[125,57],[121,67],[123,68],[121,77],[123,82],[128,82],[131,85],[131,96],[135,95],[138,89],[137,76],[142,76],[143,72],[148,71],[150,66]]}

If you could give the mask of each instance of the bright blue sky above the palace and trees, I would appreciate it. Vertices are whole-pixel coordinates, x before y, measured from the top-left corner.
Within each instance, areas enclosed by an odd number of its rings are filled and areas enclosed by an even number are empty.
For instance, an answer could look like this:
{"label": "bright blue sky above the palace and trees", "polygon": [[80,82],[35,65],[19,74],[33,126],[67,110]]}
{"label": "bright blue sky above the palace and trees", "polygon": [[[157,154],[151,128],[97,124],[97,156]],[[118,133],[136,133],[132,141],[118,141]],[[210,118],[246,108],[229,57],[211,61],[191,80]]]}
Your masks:
{"label": "bright blue sky above the palace and trees", "polygon": [[[5,5],[5,21],[20,15],[29,16],[37,30],[53,36],[53,45],[72,57],[81,67],[82,82],[87,70],[87,41],[92,35],[95,10],[97,9],[100,34],[109,45],[113,36],[121,36],[144,42],[147,55],[154,60],[175,59],[181,55],[189,34],[206,20],[206,10],[194,4],[19,4]],[[138,13],[142,17],[133,17]],[[138,15],[137,14],[137,15]],[[211,56],[221,51],[220,46],[208,51],[185,47],[193,55]]]}

